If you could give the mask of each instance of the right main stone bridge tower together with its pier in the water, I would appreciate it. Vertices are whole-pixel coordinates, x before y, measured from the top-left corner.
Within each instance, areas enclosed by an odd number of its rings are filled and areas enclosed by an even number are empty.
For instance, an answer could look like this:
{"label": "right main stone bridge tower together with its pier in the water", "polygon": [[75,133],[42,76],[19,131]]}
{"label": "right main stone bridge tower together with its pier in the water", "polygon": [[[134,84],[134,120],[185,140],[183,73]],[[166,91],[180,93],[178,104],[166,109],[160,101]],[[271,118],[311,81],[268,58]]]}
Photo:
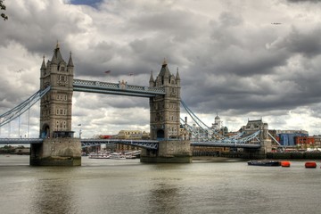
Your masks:
{"label": "right main stone bridge tower together with its pier in the water", "polygon": [[157,152],[144,151],[143,162],[191,162],[190,142],[180,139],[180,77],[171,74],[164,60],[159,75],[151,74],[150,87],[163,88],[165,95],[150,98],[151,139],[159,141]]}

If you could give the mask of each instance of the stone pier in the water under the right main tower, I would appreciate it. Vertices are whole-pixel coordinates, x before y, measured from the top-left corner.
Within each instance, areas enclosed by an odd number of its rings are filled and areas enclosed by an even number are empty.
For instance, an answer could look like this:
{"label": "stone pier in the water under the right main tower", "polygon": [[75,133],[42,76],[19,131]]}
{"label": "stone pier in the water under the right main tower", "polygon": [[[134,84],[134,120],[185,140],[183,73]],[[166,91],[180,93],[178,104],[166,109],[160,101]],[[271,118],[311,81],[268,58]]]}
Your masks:
{"label": "stone pier in the water under the right main tower", "polygon": [[184,140],[163,140],[159,143],[158,151],[144,149],[141,152],[140,161],[155,163],[191,163],[191,144],[189,141]]}

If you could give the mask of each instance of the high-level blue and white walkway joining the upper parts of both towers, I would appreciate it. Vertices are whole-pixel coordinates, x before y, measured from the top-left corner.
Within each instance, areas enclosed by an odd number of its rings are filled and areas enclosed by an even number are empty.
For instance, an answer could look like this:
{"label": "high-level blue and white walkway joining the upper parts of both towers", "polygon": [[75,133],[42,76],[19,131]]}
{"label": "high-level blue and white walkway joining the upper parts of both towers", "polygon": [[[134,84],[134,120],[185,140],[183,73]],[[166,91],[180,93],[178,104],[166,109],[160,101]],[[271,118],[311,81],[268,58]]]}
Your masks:
{"label": "high-level blue and white walkway joining the upper parts of both towers", "polygon": [[92,80],[74,79],[73,90],[78,92],[90,92],[108,95],[129,95],[140,97],[153,97],[165,95],[164,88],[149,86],[132,86],[127,83],[109,83]]}

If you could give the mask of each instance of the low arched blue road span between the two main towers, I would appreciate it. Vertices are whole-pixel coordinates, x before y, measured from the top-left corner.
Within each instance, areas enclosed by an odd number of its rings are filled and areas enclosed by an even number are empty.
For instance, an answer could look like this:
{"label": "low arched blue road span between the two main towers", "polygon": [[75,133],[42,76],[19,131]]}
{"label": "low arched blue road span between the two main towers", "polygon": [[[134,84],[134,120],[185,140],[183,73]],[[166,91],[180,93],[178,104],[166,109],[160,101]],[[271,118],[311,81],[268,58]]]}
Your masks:
{"label": "low arched blue road span between the two main towers", "polygon": [[159,142],[154,140],[81,139],[82,147],[89,147],[99,144],[128,144],[144,149],[157,150]]}

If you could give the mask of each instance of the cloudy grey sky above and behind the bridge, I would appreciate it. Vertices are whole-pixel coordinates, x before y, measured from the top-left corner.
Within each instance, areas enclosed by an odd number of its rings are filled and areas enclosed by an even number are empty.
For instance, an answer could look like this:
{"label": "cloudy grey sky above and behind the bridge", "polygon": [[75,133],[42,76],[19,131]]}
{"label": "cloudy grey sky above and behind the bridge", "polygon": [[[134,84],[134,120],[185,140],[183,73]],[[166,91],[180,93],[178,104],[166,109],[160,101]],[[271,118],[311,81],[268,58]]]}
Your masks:
{"label": "cloudy grey sky above and behind the bridge", "polygon": [[[172,73],[179,69],[182,100],[209,126],[218,113],[232,131],[263,119],[270,129],[321,134],[319,2],[5,0],[0,113],[38,90],[43,56],[51,60],[59,41],[65,61],[72,53],[75,78],[148,86],[166,58]],[[29,118],[37,136],[39,104],[21,116],[21,135]],[[149,102],[75,92],[72,124],[84,137],[149,131]],[[17,127],[12,122],[0,136],[13,137]]]}

